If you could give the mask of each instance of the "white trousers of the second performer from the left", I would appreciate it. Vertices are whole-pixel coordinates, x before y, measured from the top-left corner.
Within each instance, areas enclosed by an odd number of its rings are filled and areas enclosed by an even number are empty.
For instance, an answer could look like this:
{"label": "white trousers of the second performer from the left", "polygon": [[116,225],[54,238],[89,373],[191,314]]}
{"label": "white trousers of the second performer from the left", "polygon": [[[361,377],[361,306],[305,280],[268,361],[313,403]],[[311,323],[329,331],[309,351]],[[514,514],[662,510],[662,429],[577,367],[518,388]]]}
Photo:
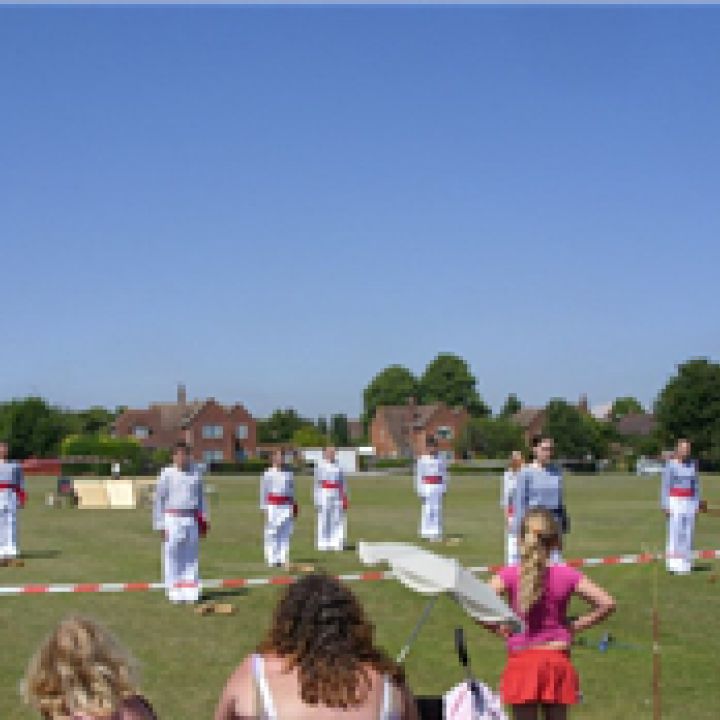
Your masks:
{"label": "white trousers of the second performer from the left", "polygon": [[[165,515],[167,540],[163,543],[163,582],[171,602],[197,602],[200,598],[200,542],[192,516]],[[183,587],[173,587],[181,583]]]}

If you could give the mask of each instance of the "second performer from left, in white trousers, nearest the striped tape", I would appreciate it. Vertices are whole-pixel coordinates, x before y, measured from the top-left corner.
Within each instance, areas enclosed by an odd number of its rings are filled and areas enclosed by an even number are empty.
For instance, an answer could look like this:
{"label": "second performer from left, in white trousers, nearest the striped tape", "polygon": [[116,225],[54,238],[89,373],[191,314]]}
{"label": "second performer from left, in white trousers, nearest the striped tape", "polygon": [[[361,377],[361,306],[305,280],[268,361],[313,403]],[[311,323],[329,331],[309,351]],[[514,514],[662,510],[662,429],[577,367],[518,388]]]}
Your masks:
{"label": "second performer from left, in white trousers, nearest the striped tape", "polygon": [[163,581],[171,602],[200,599],[199,537],[207,533],[202,471],[186,443],[173,450],[155,488],[153,527],[163,535]]}

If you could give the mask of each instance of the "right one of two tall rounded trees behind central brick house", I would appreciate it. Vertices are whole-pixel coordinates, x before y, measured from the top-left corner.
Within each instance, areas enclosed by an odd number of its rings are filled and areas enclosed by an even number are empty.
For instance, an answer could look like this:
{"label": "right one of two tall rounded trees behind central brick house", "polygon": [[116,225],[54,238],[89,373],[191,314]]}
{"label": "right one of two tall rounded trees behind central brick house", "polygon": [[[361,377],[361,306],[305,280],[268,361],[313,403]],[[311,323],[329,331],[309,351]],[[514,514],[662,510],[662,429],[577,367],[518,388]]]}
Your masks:
{"label": "right one of two tall rounded trees behind central brick house", "polygon": [[490,408],[478,394],[476,384],[465,360],[453,353],[440,353],[420,378],[420,399],[423,403],[464,407],[473,417],[487,417]]}

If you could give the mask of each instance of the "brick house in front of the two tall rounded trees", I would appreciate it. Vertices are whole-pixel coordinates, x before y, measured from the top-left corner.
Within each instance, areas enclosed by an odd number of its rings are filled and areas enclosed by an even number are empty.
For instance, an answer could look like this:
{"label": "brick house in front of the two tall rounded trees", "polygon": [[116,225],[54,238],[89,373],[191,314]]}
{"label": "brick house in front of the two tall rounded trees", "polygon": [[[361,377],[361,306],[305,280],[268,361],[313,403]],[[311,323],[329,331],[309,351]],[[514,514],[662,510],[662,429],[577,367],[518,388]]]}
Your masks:
{"label": "brick house in front of the two tall rounded trees", "polygon": [[464,408],[444,403],[380,405],[370,423],[370,444],[380,458],[414,457],[427,438],[434,438],[438,450],[452,459],[455,439],[469,417]]}

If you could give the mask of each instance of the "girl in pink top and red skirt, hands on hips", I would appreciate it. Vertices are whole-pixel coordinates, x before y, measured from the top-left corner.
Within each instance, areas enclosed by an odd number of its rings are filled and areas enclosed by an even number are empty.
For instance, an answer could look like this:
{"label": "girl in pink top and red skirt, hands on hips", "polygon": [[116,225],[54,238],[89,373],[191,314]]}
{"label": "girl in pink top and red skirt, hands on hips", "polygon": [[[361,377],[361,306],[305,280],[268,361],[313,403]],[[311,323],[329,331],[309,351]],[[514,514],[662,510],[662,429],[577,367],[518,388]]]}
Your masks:
{"label": "girl in pink top and red skirt, hands on hips", "polygon": [[[561,533],[544,508],[528,510],[520,527],[520,564],[502,568],[490,580],[508,598],[524,627],[511,634],[506,625],[485,627],[505,638],[508,661],[500,683],[503,702],[515,720],[565,720],[568,706],[578,699],[578,675],[570,662],[573,636],[604,620],[615,601],[575,568],[550,561],[561,549]],[[566,616],[573,595],[590,611],[570,621]]]}

